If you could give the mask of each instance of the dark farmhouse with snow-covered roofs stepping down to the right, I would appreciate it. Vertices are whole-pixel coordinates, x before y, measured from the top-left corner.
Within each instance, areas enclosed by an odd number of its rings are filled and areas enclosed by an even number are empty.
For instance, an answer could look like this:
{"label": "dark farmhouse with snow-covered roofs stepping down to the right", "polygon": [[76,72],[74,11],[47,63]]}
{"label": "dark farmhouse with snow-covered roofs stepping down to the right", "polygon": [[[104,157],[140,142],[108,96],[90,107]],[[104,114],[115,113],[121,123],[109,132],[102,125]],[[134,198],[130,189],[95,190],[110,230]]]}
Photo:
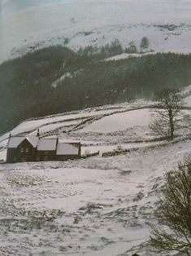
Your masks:
{"label": "dark farmhouse with snow-covered roofs stepping down to the right", "polygon": [[66,161],[81,157],[80,142],[59,142],[59,138],[43,139],[37,135],[10,136],[7,162],[20,161]]}

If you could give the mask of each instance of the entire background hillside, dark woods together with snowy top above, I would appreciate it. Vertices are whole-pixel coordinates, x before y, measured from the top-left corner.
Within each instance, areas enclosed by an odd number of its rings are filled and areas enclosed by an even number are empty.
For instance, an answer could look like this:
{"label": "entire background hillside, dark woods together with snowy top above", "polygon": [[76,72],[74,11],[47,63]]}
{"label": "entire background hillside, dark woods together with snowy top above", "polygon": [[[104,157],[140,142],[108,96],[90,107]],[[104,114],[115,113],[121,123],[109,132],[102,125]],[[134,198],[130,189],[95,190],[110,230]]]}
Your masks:
{"label": "entire background hillside, dark woods together with snowy top above", "polygon": [[188,0],[3,1],[0,134],[26,118],[189,86],[190,13]]}

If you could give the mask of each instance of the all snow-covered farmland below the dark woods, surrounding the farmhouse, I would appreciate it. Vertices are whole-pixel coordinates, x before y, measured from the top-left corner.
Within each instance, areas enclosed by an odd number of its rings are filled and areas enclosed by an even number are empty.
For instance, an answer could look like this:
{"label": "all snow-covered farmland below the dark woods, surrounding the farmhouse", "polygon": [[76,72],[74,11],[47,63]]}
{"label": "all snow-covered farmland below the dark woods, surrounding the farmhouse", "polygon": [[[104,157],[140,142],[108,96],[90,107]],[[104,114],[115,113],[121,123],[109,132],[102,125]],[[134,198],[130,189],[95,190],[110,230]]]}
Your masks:
{"label": "all snow-covered farmland below the dark woods, surrounding the farmhouse", "polygon": [[[41,136],[80,140],[83,154],[100,154],[0,164],[0,255],[154,256],[146,241],[163,176],[191,156],[191,140],[187,125],[174,143],[152,141],[152,105],[89,108],[15,127],[14,135],[40,128]],[[184,115],[190,118],[189,108],[181,114],[182,125]],[[6,157],[7,137],[0,137],[0,159]],[[102,157],[119,150],[120,155]]]}

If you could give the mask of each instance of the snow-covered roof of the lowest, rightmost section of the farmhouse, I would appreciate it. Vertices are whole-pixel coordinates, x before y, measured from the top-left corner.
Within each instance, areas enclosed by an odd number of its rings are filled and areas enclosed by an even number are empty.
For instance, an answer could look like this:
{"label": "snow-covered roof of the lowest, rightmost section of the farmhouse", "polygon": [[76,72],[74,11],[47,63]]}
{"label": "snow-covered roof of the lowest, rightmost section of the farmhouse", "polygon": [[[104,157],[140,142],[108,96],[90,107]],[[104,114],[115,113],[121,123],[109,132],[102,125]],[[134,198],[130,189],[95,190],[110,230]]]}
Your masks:
{"label": "snow-covered roof of the lowest, rightmost section of the farmhouse", "polygon": [[80,143],[58,143],[57,155],[78,155]]}

